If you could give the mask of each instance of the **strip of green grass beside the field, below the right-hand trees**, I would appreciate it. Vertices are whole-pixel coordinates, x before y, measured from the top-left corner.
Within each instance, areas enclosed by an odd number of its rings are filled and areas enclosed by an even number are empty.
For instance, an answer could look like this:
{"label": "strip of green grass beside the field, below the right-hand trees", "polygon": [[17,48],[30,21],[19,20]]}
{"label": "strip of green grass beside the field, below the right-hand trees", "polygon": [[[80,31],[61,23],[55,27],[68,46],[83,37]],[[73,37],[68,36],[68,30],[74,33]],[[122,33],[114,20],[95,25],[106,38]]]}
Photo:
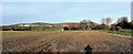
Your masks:
{"label": "strip of green grass beside the field, below the right-hand trees", "polygon": [[133,35],[133,30],[122,30],[122,31],[111,31],[111,30],[103,30],[108,33],[121,34],[121,35]]}

